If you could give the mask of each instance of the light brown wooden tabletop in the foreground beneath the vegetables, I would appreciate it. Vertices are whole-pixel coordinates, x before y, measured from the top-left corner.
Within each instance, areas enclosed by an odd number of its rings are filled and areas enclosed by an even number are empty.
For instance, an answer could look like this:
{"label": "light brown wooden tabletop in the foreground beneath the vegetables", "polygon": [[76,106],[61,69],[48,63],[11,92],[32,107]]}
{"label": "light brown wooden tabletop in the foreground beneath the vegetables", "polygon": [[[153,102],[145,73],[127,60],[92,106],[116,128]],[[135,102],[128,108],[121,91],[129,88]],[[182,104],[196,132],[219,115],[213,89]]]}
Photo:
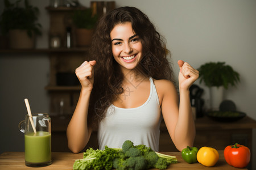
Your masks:
{"label": "light brown wooden tabletop in the foreground beneath the vegetables", "polygon": [[[176,156],[177,164],[171,164],[168,169],[246,169],[234,168],[226,163],[223,155],[223,150],[218,151],[220,159],[214,167],[205,167],[200,163],[188,164],[182,157],[181,152],[161,152],[163,154]],[[73,154],[71,152],[52,152],[52,164],[47,167],[30,168],[24,163],[24,152],[3,152],[0,155],[0,169],[72,169],[76,159],[82,159],[82,153]]]}

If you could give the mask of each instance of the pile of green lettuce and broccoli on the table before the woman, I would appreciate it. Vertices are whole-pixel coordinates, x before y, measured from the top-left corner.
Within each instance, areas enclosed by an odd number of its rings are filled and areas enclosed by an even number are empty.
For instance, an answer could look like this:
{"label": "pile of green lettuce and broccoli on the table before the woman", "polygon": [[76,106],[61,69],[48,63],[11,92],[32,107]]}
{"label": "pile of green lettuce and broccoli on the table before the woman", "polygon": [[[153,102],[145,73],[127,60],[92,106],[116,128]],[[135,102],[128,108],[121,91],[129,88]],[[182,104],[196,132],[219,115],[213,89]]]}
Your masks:
{"label": "pile of green lettuce and broccoli on the table before the woman", "polygon": [[133,142],[125,141],[122,148],[105,146],[103,151],[88,149],[84,152],[84,159],[76,160],[73,169],[166,169],[171,163],[177,163],[175,156],[160,154],[145,145],[134,146]]}

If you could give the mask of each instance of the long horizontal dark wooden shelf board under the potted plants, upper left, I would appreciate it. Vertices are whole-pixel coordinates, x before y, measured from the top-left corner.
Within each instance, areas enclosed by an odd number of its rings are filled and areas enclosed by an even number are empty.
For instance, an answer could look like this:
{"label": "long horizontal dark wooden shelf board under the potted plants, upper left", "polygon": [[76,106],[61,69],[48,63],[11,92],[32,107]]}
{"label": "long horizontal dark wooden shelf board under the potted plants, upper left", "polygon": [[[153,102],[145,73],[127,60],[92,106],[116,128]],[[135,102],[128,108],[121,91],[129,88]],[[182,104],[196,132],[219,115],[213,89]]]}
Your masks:
{"label": "long horizontal dark wooden shelf board under the potted plants, upper left", "polygon": [[39,49],[0,49],[0,53],[87,53],[89,47],[84,48],[39,48]]}

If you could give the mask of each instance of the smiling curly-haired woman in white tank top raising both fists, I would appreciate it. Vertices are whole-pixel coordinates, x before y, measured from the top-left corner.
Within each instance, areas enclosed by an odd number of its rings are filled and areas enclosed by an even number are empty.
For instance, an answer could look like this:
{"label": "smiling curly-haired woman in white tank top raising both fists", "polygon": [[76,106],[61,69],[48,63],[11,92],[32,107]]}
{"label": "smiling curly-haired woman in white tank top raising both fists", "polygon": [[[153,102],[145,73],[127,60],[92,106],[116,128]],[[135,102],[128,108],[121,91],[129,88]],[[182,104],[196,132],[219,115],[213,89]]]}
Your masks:
{"label": "smiling curly-haired woman in white tank top raising both fists", "polygon": [[80,152],[98,130],[101,150],[130,140],[158,151],[162,118],[179,151],[193,146],[189,87],[199,72],[178,61],[179,99],[167,55],[162,37],[137,8],[121,7],[102,16],[91,60],[76,69],[81,92],[67,129],[69,149]]}

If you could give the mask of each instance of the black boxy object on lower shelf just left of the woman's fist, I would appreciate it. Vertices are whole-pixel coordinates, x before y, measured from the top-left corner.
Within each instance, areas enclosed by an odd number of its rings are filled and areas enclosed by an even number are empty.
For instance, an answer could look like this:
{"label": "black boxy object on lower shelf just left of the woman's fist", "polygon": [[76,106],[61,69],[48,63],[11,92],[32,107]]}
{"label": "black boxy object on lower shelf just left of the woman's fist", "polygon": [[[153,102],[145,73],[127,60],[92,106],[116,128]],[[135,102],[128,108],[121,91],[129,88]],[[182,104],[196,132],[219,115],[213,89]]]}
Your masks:
{"label": "black boxy object on lower shelf just left of the woman's fist", "polygon": [[57,73],[56,83],[57,86],[78,86],[79,79],[75,73]]}

